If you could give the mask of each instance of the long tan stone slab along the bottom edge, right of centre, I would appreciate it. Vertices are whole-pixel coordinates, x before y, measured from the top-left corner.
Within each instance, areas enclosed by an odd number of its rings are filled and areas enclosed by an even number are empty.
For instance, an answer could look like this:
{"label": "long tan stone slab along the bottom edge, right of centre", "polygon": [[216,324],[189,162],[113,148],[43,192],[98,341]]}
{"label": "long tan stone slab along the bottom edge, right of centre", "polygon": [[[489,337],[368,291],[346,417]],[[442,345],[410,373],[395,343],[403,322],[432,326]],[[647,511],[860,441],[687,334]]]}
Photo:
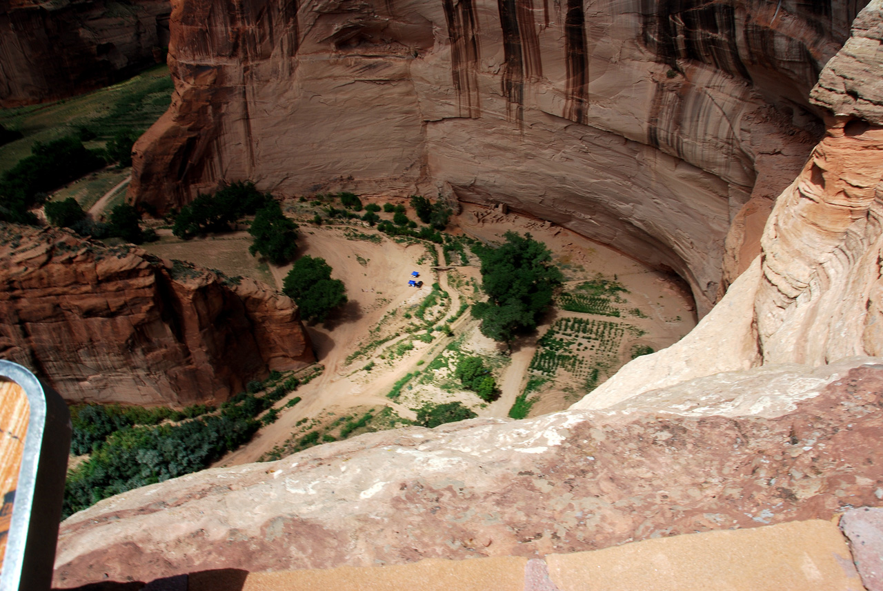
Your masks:
{"label": "long tan stone slab along the bottom edge, right of centre", "polygon": [[830,521],[656,538],[546,557],[562,591],[861,591],[846,540]]}

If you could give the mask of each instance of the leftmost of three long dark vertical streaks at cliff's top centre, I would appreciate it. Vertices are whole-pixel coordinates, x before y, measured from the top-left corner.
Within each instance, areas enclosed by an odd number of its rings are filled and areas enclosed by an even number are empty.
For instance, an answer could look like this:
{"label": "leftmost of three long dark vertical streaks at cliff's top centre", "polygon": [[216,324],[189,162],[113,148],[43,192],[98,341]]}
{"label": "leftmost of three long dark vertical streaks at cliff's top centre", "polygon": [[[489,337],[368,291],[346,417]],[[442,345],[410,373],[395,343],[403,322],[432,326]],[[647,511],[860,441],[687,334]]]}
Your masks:
{"label": "leftmost of three long dark vertical streaks at cliff's top centre", "polygon": [[478,65],[481,56],[479,26],[472,0],[443,0],[450,40],[450,67],[461,117],[481,116]]}

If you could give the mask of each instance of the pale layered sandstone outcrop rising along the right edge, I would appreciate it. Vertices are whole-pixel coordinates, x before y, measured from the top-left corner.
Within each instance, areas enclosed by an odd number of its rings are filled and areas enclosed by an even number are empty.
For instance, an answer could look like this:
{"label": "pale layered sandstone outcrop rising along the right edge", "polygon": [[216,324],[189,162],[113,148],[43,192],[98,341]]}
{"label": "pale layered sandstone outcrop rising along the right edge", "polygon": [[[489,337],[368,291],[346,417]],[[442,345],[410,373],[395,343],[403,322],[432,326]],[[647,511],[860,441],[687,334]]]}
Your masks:
{"label": "pale layered sandstone outcrop rising along the right edge", "polygon": [[870,73],[883,71],[881,22],[883,2],[873,0],[813,89],[831,109],[827,131],[777,199],[761,256],[685,339],[629,363],[575,408],[753,365],[883,354],[883,113]]}

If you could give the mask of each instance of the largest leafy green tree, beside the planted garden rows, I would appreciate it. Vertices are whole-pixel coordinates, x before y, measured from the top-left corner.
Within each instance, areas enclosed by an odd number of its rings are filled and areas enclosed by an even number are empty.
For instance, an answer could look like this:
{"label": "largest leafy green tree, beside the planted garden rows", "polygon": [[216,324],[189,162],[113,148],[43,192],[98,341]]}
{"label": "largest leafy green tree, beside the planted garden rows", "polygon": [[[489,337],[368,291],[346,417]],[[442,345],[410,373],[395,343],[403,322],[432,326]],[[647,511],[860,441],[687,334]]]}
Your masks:
{"label": "largest leafy green tree, beside the planted garden rows", "polygon": [[482,334],[509,344],[517,332],[536,328],[563,276],[551,265],[546,245],[530,234],[507,232],[504,237],[498,248],[473,247],[481,259],[481,287],[488,302],[475,304],[472,315],[481,319]]}

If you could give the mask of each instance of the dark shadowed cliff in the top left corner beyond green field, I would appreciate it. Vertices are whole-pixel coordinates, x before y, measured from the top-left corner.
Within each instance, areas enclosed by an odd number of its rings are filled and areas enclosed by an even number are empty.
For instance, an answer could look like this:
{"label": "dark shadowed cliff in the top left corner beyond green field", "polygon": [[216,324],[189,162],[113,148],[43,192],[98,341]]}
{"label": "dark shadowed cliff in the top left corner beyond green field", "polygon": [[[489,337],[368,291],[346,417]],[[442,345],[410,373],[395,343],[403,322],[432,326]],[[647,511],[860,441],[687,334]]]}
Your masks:
{"label": "dark shadowed cliff in the top left corner beyond green field", "polygon": [[162,59],[166,0],[0,0],[0,108],[107,86]]}

